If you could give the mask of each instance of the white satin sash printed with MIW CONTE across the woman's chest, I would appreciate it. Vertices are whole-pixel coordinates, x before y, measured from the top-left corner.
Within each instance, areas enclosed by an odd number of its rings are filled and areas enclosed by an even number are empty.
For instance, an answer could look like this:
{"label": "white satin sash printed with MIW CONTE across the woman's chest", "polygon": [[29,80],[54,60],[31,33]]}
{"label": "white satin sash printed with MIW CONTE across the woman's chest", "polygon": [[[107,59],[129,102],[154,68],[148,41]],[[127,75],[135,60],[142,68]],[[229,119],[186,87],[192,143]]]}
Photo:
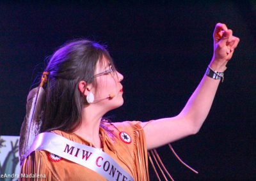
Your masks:
{"label": "white satin sash printed with MIW CONTE across the woman's chest", "polygon": [[70,141],[58,134],[38,134],[26,157],[35,150],[47,150],[56,156],[81,164],[96,171],[107,180],[133,180],[131,175],[102,149]]}

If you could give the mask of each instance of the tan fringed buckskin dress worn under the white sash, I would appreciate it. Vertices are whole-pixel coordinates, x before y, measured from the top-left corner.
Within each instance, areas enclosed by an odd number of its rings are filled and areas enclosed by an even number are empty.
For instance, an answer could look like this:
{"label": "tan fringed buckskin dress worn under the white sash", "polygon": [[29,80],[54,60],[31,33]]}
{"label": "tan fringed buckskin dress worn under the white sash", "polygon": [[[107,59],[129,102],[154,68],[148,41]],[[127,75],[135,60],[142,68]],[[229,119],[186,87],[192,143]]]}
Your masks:
{"label": "tan fringed buckskin dress worn under the white sash", "polygon": [[[102,138],[102,150],[109,154],[115,161],[129,173],[134,180],[149,180],[147,145],[143,129],[138,121],[126,121],[118,123],[104,123],[108,129],[100,127]],[[125,143],[120,138],[120,132],[131,136],[131,143]],[[76,134],[63,131],[52,131],[68,140],[92,146],[92,143],[84,140]],[[20,180],[106,180],[101,175],[80,164],[66,159],[54,161],[45,150],[32,152],[24,161],[21,173],[24,175],[38,174],[40,178],[19,178]],[[46,178],[44,178],[46,177]],[[121,180],[121,178],[119,179]]]}

